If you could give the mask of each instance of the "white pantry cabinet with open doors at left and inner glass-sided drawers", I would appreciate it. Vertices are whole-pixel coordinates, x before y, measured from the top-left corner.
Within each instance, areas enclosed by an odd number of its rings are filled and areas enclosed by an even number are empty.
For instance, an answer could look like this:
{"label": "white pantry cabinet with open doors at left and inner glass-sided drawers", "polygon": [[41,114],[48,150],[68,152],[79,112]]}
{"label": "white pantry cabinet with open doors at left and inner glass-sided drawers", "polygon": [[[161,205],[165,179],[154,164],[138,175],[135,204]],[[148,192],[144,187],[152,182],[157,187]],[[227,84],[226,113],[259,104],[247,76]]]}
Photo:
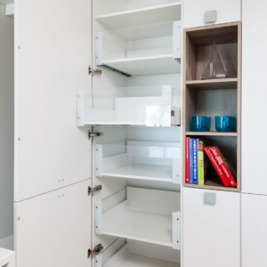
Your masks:
{"label": "white pantry cabinet with open doors at left and inner glass-sided drawers", "polygon": [[181,266],[181,10],[15,0],[16,267]]}

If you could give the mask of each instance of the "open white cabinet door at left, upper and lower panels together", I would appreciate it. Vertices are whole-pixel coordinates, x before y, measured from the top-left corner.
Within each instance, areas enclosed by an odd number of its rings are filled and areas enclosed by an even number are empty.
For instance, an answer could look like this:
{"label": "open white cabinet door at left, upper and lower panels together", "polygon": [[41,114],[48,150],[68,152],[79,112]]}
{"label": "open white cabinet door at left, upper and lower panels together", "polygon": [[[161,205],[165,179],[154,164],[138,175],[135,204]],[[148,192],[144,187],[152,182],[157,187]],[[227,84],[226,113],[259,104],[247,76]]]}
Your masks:
{"label": "open white cabinet door at left, upper and lower panels together", "polygon": [[91,266],[91,128],[77,127],[91,11],[91,0],[15,0],[17,267]]}

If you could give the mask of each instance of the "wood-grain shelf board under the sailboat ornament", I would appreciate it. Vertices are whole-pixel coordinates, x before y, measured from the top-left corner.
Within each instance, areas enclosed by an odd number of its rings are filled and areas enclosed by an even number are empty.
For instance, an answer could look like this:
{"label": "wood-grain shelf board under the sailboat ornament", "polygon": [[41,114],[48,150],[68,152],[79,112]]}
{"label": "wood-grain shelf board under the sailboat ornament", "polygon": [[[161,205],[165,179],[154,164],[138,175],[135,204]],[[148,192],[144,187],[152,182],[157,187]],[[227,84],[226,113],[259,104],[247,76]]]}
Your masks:
{"label": "wood-grain shelf board under the sailboat ornament", "polygon": [[217,80],[195,80],[187,81],[186,85],[190,88],[197,90],[203,89],[237,89],[238,88],[238,78],[228,78],[228,79],[217,79]]}

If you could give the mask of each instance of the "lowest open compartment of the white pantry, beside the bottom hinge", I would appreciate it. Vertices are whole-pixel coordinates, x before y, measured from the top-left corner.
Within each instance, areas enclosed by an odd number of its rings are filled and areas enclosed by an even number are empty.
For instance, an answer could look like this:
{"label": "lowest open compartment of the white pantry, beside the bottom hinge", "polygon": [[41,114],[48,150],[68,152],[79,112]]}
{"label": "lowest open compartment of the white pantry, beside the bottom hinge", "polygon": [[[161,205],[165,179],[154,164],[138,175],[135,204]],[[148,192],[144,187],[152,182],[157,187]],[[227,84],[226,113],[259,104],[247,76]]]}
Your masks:
{"label": "lowest open compartment of the white pantry, beside the bottom hinge", "polygon": [[94,257],[95,267],[180,267],[180,263],[173,248],[119,238],[110,239],[110,245]]}

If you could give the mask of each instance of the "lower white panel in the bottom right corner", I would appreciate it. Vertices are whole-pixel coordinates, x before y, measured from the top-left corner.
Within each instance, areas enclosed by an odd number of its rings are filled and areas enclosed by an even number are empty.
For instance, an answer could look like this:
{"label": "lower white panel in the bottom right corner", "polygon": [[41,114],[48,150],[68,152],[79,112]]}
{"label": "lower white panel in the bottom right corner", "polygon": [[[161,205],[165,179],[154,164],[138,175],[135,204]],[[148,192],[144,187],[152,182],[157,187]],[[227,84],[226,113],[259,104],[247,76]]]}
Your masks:
{"label": "lower white panel in the bottom right corner", "polygon": [[242,267],[267,266],[267,197],[242,194]]}

